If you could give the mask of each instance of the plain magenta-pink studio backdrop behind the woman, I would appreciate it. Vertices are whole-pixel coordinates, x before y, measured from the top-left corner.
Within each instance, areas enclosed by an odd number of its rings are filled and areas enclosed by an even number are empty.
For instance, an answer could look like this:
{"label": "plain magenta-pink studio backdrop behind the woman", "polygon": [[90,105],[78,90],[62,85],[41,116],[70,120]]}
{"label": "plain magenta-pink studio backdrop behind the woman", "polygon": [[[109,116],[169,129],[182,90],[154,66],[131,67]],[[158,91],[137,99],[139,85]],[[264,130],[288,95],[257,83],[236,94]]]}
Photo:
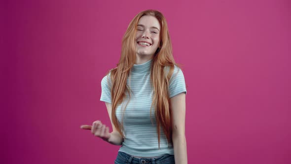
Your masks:
{"label": "plain magenta-pink studio backdrop behind the woman", "polygon": [[[4,2],[1,2],[4,3]],[[166,17],[187,84],[189,164],[290,164],[289,0],[27,0],[1,4],[1,164],[113,164],[101,80],[130,20]]]}

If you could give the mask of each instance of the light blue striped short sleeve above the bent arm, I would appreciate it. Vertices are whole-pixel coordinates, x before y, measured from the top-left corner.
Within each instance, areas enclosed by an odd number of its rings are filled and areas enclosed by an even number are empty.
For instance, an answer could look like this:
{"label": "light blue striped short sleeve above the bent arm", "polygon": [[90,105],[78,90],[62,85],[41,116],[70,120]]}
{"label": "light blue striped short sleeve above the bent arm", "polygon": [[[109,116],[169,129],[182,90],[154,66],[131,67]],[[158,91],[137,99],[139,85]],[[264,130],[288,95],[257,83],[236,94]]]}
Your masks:
{"label": "light blue striped short sleeve above the bent arm", "polygon": [[101,81],[101,98],[100,101],[111,103],[111,89],[110,85],[110,74],[105,76]]}

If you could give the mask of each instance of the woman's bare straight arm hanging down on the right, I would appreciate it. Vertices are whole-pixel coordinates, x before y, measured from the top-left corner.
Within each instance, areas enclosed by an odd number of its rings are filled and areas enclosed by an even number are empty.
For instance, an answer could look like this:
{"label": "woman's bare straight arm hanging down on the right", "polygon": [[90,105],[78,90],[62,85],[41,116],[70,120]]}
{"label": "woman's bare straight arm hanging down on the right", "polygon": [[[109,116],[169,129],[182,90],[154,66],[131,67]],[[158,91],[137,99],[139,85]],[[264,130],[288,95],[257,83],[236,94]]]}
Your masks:
{"label": "woman's bare straight arm hanging down on the right", "polygon": [[171,98],[172,139],[176,164],[187,164],[185,109],[185,93],[180,93]]}

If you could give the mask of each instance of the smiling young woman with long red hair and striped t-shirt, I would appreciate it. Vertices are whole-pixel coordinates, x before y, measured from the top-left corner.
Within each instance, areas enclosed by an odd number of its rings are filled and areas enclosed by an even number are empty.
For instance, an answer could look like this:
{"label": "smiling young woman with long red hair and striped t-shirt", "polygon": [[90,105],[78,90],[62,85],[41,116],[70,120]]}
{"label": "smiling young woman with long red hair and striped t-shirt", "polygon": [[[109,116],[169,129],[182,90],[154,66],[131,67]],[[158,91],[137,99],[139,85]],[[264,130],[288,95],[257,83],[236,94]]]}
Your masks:
{"label": "smiling young woman with long red hair and striped t-shirt", "polygon": [[101,121],[81,128],[122,145],[115,164],[187,164],[185,81],[162,13],[146,10],[133,18],[119,63],[101,85],[113,130]]}

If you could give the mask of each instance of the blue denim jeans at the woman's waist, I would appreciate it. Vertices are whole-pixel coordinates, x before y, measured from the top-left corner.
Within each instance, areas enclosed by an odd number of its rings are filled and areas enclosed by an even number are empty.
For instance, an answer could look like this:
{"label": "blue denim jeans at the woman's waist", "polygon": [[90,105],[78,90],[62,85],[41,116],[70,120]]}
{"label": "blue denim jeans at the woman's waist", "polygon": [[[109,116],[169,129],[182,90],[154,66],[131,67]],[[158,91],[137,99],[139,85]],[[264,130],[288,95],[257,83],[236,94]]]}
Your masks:
{"label": "blue denim jeans at the woman's waist", "polygon": [[163,155],[156,158],[135,158],[124,152],[118,152],[114,164],[175,164],[174,155]]}

